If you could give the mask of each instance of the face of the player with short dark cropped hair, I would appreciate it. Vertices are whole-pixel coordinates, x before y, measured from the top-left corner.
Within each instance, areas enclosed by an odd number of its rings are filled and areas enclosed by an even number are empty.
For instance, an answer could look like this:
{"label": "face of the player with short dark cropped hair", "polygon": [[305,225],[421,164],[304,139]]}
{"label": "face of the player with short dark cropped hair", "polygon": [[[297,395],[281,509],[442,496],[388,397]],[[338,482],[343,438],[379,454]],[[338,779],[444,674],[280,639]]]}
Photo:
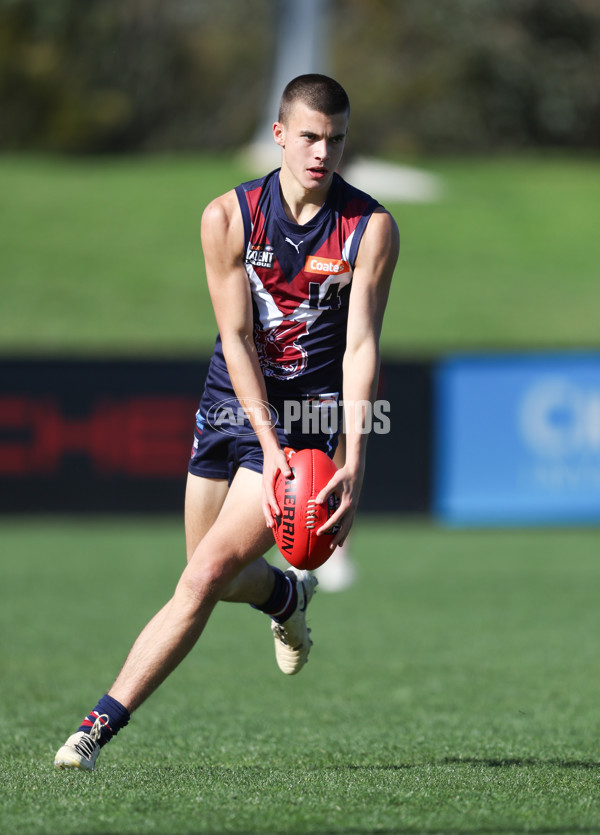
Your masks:
{"label": "face of the player with short dark cropped hair", "polygon": [[344,152],[348,114],[325,116],[296,102],[286,123],[276,122],[273,135],[283,149],[282,165],[307,191],[326,189]]}

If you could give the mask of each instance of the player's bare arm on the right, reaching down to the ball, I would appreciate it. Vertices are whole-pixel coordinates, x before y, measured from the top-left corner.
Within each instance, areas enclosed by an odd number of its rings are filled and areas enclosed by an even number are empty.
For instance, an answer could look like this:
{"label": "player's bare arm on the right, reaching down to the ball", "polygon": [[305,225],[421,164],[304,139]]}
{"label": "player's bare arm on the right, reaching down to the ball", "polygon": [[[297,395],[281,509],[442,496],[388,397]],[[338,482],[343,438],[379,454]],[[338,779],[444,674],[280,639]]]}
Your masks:
{"label": "player's bare arm on the right, reaching down to the ball", "polygon": [[341,499],[337,511],[319,529],[324,532],[339,523],[332,547],[348,536],[358,507],[379,379],[379,339],[399,249],[396,222],[385,209],[376,210],[360,242],[350,291],[343,383],[346,460],[317,497],[324,501],[335,492]]}

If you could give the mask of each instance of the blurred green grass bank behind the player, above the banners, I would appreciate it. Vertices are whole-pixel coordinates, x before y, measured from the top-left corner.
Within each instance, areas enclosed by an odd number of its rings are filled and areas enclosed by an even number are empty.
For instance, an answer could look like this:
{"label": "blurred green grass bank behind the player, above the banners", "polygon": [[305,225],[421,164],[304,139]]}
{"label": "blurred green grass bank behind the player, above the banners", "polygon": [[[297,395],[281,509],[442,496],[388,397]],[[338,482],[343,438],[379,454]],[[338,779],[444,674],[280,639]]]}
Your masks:
{"label": "blurred green grass bank behind the player, above the banners", "polygon": [[[598,346],[600,162],[437,161],[444,199],[389,208],[402,250],[382,346]],[[199,224],[229,157],[0,157],[0,351],[208,352]]]}

